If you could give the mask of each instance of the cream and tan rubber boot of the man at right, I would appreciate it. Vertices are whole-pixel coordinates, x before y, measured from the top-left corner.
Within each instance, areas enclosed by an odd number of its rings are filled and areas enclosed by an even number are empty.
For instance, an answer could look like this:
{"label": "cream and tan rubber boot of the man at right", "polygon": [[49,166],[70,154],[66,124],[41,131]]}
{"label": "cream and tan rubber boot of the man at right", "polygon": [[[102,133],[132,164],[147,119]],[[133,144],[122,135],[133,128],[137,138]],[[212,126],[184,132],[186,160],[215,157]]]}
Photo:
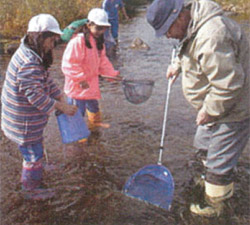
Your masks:
{"label": "cream and tan rubber boot of the man at right", "polygon": [[233,195],[234,184],[215,185],[205,181],[205,202],[191,204],[190,211],[204,217],[219,217],[224,208],[226,199]]}

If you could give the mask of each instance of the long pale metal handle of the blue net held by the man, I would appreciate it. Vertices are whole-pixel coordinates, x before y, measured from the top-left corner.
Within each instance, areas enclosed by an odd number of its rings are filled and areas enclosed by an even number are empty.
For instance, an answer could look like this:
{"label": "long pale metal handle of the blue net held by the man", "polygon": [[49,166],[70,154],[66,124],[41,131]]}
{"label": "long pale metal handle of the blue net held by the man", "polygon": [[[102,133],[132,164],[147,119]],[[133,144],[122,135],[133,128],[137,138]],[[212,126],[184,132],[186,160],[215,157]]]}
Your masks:
{"label": "long pale metal handle of the blue net held by the man", "polygon": [[[172,55],[171,55],[171,65],[173,65],[174,58],[176,56],[176,47],[174,46],[172,50]],[[170,98],[170,91],[171,87],[173,84],[173,79],[174,77],[171,77],[168,79],[168,89],[167,89],[167,95],[166,95],[166,102],[165,102],[165,110],[164,110],[164,119],[163,119],[163,124],[162,124],[162,134],[161,134],[161,144],[160,144],[160,153],[159,153],[159,159],[158,159],[158,165],[162,164],[162,153],[163,153],[163,145],[164,145],[164,137],[166,134],[166,122],[167,122],[167,115],[168,115],[168,105],[169,105],[169,98]]]}

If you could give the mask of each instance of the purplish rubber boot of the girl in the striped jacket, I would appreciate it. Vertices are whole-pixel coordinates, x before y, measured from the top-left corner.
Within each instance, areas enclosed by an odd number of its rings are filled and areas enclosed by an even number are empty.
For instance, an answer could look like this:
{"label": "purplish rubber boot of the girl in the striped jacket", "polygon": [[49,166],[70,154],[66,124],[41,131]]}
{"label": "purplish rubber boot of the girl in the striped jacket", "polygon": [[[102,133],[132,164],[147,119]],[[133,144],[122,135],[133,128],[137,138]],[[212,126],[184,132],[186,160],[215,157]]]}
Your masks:
{"label": "purplish rubber boot of the girl in the striped jacket", "polygon": [[42,173],[42,162],[23,162],[21,183],[24,198],[31,200],[46,200],[55,195],[52,189],[41,188]]}

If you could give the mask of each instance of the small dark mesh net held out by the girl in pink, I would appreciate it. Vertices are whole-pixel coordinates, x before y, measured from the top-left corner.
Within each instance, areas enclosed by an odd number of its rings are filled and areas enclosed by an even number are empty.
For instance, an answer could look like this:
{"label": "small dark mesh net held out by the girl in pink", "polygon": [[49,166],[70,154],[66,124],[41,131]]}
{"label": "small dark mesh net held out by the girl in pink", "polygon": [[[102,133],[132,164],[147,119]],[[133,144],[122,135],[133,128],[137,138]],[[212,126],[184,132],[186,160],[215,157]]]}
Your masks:
{"label": "small dark mesh net held out by the girl in pink", "polygon": [[126,99],[133,104],[140,104],[149,99],[152,94],[152,80],[123,80],[122,87]]}

